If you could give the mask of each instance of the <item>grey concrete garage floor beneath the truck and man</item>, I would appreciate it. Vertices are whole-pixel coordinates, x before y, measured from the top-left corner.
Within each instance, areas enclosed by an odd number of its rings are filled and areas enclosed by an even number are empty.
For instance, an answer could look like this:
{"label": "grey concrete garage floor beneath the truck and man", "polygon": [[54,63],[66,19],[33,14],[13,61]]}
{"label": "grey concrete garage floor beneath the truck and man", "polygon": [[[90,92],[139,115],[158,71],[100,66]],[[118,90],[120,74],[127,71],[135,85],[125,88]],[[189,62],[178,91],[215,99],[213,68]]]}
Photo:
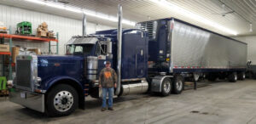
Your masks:
{"label": "grey concrete garage floor beneath the truck and man", "polygon": [[0,100],[1,123],[256,123],[256,81],[214,82],[186,90],[180,95],[160,97],[140,94],[114,99],[114,111],[101,109],[101,100],[87,99],[85,110],[71,116],[49,118],[8,99]]}

